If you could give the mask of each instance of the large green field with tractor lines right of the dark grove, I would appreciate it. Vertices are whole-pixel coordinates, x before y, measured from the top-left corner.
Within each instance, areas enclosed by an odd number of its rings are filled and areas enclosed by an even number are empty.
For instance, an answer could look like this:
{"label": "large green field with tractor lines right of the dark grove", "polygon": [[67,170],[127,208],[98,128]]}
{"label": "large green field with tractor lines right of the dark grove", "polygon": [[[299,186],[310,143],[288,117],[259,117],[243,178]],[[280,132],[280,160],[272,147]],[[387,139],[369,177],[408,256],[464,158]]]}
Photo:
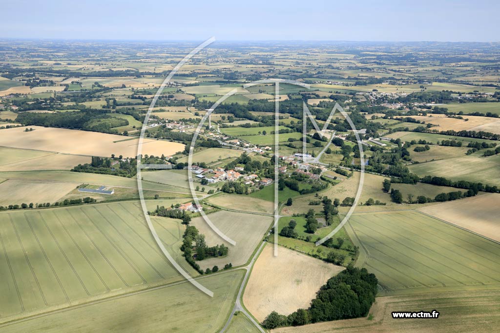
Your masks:
{"label": "large green field with tractor lines right of the dark grove", "polygon": [[417,212],[352,215],[356,263],[374,273],[382,294],[500,286],[500,245]]}

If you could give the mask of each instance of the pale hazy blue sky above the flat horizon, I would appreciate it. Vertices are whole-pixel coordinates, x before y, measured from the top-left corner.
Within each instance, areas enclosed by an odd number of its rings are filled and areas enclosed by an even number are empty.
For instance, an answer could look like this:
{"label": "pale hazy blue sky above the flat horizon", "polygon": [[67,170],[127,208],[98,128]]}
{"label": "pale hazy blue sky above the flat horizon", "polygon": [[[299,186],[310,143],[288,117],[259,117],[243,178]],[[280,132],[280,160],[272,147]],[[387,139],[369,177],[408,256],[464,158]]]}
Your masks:
{"label": "pale hazy blue sky above the flat horizon", "polygon": [[500,41],[498,0],[2,0],[0,38]]}

